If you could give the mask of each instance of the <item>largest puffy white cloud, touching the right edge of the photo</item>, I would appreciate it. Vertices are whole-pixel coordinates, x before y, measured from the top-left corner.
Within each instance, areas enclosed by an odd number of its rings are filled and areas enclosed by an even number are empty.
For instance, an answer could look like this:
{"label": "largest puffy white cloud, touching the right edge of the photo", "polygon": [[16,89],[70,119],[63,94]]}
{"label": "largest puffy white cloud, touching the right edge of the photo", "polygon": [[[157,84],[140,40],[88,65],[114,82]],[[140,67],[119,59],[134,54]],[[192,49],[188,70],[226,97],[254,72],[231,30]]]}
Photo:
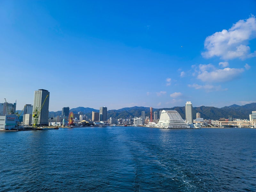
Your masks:
{"label": "largest puffy white cloud, touching the right edge of the photo", "polygon": [[221,32],[216,32],[206,37],[204,41],[204,58],[218,56],[222,59],[246,59],[256,56],[256,51],[251,53],[248,41],[256,37],[256,19],[252,15],[249,19],[239,20],[236,24]]}

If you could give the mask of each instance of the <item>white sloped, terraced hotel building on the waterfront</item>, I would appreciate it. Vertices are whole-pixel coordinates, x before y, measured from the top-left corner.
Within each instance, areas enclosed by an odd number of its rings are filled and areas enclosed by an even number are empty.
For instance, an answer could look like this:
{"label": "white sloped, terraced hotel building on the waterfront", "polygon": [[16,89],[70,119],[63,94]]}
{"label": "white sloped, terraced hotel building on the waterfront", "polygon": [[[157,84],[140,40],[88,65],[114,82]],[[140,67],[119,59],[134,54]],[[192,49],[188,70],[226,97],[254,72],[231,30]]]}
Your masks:
{"label": "white sloped, terraced hotel building on the waterfront", "polygon": [[159,128],[166,129],[189,129],[190,126],[185,123],[176,110],[162,110],[158,124]]}

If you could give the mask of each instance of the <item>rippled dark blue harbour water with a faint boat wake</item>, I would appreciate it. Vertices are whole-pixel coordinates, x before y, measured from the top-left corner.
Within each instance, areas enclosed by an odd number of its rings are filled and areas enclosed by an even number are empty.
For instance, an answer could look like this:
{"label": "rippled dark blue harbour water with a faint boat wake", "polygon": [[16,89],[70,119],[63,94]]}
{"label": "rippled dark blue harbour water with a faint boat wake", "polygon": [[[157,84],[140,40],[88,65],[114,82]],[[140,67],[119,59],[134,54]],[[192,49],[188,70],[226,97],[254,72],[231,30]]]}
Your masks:
{"label": "rippled dark blue harbour water with a faint boat wake", "polygon": [[0,191],[256,191],[256,129],[0,132]]}

